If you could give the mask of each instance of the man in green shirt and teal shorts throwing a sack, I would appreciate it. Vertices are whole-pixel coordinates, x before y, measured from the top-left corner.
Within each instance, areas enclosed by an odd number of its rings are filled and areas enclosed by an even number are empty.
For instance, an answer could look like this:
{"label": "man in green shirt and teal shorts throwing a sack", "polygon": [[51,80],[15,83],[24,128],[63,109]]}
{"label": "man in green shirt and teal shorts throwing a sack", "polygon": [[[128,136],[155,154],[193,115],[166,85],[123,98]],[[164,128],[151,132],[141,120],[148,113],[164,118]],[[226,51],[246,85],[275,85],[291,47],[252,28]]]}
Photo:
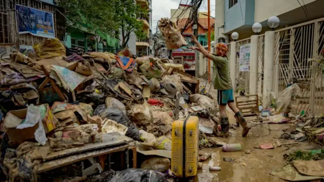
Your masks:
{"label": "man in green shirt and teal shorts throwing a sack", "polygon": [[242,136],[245,137],[249,130],[247,121],[242,116],[234,103],[232,81],[230,79],[229,61],[227,58],[228,48],[226,44],[219,43],[216,45],[216,53],[211,54],[203,46],[199,44],[196,37],[191,35],[191,40],[197,45],[197,47],[191,47],[192,50],[198,50],[205,57],[211,59],[214,62],[214,89],[217,89],[217,101],[219,105],[219,111],[221,115],[221,128],[222,135],[228,135],[229,122],[226,115],[226,105],[235,113],[237,124],[240,124],[243,128]]}

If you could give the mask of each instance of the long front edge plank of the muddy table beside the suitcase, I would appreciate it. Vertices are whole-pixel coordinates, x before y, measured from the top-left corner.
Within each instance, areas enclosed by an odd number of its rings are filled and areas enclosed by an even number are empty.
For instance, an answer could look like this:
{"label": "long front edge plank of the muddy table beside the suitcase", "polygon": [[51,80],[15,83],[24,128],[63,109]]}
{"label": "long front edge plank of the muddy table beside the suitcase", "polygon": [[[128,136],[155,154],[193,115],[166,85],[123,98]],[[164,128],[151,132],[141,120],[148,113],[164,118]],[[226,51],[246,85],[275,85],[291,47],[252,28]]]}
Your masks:
{"label": "long front edge plank of the muddy table beside the suitcase", "polygon": [[114,152],[124,151],[128,147],[130,147],[129,144],[124,144],[124,145],[121,145],[118,147],[113,147],[113,148],[108,148],[108,149],[103,149],[103,150],[98,150],[98,151],[92,151],[92,152],[87,152],[87,153],[83,153],[83,154],[72,155],[72,156],[69,156],[69,157],[66,157],[63,159],[56,159],[56,160],[44,162],[44,163],[39,164],[39,167],[38,167],[36,173],[42,173],[42,172],[46,172],[46,171],[56,169],[56,168],[59,168],[62,166],[73,164],[78,161],[86,160],[90,157],[98,157],[98,156],[102,156],[102,155],[106,155],[106,154],[110,154],[110,153],[114,153]]}

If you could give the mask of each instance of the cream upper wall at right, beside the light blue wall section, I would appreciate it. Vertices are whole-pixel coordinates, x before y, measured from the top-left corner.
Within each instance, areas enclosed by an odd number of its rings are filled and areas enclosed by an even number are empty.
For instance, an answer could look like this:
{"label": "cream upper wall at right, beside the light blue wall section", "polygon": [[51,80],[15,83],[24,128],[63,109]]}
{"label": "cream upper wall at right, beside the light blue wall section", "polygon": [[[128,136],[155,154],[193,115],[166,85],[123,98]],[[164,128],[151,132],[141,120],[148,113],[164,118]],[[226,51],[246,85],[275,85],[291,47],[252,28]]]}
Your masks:
{"label": "cream upper wall at right, beside the light blue wall section", "polygon": [[[316,0],[303,0],[305,5],[312,3]],[[323,1],[323,0],[317,0]],[[303,2],[299,1],[302,5]],[[292,11],[296,8],[300,8],[300,4],[296,0],[256,0],[255,1],[255,13],[254,21],[262,22],[267,20],[271,16],[278,16],[283,13]]]}

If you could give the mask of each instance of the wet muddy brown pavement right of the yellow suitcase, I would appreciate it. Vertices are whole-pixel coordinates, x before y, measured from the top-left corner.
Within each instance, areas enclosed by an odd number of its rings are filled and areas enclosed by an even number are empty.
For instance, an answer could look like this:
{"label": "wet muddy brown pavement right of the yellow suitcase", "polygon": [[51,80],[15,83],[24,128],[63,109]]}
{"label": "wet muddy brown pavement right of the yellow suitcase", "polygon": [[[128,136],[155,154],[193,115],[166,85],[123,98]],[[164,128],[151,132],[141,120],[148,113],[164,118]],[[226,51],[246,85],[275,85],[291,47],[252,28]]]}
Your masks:
{"label": "wet muddy brown pavement right of the yellow suitcase", "polygon": [[[233,113],[227,111],[227,115],[230,124],[235,124]],[[252,120],[253,117],[247,119]],[[245,138],[241,136],[241,127],[237,128],[235,126],[234,128],[236,130],[230,129],[231,136],[228,138],[215,138],[226,143],[240,143],[242,150],[239,152],[223,152],[222,148],[200,150],[203,153],[212,153],[212,158],[204,162],[203,169],[198,170],[194,181],[285,181],[270,174],[272,170],[278,169],[286,164],[283,157],[284,154],[297,149],[318,149],[318,145],[308,143],[307,141],[300,142],[302,144],[301,147],[291,148],[289,150],[286,150],[287,148],[285,147],[268,150],[255,149],[254,147],[258,147],[259,144],[263,143],[274,143],[276,141],[288,143],[294,141],[277,139],[282,133],[282,129],[289,128],[290,124],[270,124],[270,134],[268,134],[268,126],[266,124],[262,125],[258,128],[253,128],[254,134],[251,129]],[[246,154],[247,150],[250,150],[250,154]],[[225,162],[223,161],[223,157],[234,159],[234,162]],[[222,169],[220,171],[209,171],[210,165],[219,166]]]}

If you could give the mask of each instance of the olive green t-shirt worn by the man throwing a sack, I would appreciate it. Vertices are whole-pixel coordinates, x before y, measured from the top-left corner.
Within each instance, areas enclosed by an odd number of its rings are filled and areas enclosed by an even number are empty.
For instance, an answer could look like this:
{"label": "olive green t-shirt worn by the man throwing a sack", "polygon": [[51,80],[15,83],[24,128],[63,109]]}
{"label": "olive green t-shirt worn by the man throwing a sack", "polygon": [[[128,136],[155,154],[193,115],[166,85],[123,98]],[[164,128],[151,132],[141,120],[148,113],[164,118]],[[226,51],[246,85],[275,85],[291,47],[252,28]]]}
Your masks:
{"label": "olive green t-shirt worn by the man throwing a sack", "polygon": [[229,61],[227,57],[212,56],[214,62],[214,89],[233,89],[229,72]]}

